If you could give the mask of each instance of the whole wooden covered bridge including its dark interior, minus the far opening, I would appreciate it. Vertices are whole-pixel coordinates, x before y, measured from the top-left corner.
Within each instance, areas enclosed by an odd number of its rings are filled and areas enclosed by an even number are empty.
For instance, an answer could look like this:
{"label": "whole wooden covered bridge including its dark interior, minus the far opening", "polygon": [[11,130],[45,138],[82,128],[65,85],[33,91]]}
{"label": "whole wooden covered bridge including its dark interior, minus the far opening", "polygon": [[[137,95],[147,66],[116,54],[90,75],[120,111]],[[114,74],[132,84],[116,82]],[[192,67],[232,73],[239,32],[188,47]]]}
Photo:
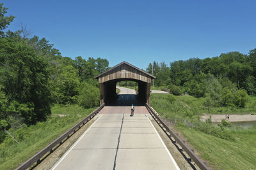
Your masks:
{"label": "whole wooden covered bridge including its dark interior, minus the far opening", "polygon": [[[110,106],[142,106],[150,104],[150,85],[154,76],[122,62],[108,71],[95,76],[99,81],[100,104]],[[132,82],[132,83],[131,83]],[[134,94],[116,94],[116,85],[133,85],[138,92]],[[122,91],[122,89],[121,89]]]}

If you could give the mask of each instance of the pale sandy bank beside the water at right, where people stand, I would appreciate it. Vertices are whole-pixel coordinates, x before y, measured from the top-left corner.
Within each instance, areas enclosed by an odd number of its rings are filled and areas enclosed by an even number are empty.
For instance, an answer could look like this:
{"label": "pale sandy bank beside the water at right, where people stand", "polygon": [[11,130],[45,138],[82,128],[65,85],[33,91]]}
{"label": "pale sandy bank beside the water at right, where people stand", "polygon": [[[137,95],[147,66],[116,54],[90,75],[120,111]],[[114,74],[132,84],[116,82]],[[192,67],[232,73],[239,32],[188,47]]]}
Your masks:
{"label": "pale sandy bank beside the water at right, where people stand", "polygon": [[[203,115],[201,116],[201,120],[205,121],[207,118],[209,118],[210,115]],[[221,122],[223,118],[225,118],[225,115],[211,115],[212,122]],[[256,115],[229,115],[228,122],[250,122],[250,121],[256,121]]]}

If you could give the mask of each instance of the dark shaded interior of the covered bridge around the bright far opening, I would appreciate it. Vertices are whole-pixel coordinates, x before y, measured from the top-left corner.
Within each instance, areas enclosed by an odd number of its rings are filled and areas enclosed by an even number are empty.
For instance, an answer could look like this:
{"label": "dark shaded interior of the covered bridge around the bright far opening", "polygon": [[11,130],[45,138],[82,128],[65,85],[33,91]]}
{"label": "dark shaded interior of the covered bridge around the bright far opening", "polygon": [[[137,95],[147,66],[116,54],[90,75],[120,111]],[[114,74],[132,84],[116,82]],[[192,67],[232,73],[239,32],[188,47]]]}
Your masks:
{"label": "dark shaded interior of the covered bridge around the bright far opening", "polygon": [[[116,83],[118,81],[138,82],[138,94],[116,94]],[[117,79],[103,83],[104,103],[106,106],[144,106],[147,103],[147,83],[132,79]]]}

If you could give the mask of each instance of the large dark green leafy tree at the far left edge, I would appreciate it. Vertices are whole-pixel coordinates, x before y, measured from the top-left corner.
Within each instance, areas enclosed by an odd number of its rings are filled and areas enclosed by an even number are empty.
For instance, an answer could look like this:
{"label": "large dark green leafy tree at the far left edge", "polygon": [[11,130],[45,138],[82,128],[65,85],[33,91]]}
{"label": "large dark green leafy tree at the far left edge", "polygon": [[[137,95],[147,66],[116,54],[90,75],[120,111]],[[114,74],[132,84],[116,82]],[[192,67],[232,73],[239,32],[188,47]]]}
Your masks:
{"label": "large dark green leafy tree at the far left edge", "polygon": [[21,117],[26,124],[51,114],[47,61],[28,45],[0,38],[0,84],[7,99],[6,115]]}

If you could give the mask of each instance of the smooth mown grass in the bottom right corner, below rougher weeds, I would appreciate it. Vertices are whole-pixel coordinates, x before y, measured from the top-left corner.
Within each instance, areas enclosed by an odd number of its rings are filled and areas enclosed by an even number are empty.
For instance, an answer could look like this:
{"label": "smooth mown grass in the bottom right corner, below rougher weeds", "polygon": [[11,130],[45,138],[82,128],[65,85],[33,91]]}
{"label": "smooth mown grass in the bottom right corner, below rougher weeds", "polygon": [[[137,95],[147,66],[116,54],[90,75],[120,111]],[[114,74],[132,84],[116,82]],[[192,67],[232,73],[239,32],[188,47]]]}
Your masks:
{"label": "smooth mown grass in the bottom right corner, below rougher weeds", "polygon": [[184,127],[177,128],[188,142],[200,152],[216,169],[255,169],[256,132],[253,134],[234,134],[236,141],[216,138],[203,132]]}

